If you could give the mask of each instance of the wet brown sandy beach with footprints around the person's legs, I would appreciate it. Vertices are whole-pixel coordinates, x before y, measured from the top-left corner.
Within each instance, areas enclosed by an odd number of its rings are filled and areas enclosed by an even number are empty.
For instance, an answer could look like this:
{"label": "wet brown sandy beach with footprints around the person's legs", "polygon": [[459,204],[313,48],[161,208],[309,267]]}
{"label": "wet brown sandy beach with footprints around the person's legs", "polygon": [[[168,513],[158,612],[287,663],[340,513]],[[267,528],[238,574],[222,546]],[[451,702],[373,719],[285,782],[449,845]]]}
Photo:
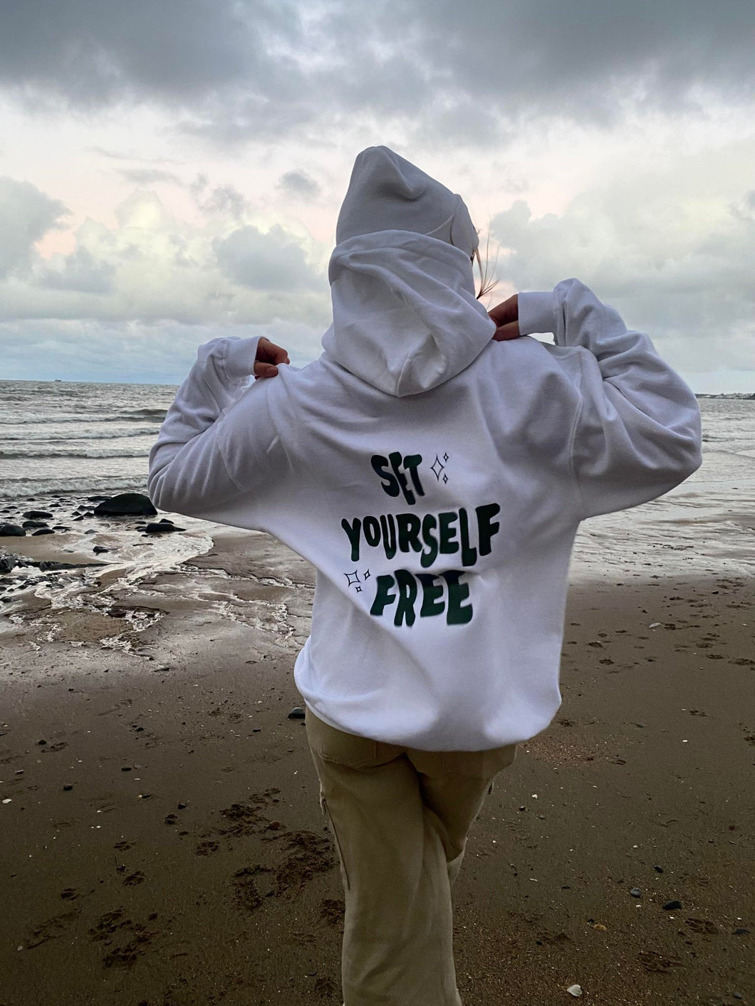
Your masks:
{"label": "wet brown sandy beach with footprints around the person's legs", "polygon": [[[341,1002],[335,850],[288,718],[312,570],[176,522],[192,557],[132,530],[149,575],[101,555],[5,603],[0,1006]],[[2,548],[95,561],[81,540]],[[563,707],[496,782],[455,888],[465,1006],[574,984],[755,1001],[752,602],[747,575],[661,565],[571,586]]]}

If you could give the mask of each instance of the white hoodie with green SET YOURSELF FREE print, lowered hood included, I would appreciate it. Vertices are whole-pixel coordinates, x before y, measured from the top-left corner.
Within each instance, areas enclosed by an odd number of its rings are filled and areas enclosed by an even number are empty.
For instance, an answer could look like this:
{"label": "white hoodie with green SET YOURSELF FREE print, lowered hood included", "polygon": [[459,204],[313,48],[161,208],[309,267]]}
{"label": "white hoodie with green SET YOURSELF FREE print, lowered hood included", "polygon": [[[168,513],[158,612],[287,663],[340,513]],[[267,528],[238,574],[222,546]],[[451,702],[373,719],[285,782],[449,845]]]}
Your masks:
{"label": "white hoodie with green SET YOURSELF FREE print, lowered hood included", "polygon": [[257,339],[199,348],[149,495],[316,567],[294,674],[325,722],[426,750],[526,740],[561,701],[577,527],[700,466],[695,395],[578,280],[520,294],[523,336],[493,342],[446,241],[356,235],[330,278],[308,366],[250,383]]}

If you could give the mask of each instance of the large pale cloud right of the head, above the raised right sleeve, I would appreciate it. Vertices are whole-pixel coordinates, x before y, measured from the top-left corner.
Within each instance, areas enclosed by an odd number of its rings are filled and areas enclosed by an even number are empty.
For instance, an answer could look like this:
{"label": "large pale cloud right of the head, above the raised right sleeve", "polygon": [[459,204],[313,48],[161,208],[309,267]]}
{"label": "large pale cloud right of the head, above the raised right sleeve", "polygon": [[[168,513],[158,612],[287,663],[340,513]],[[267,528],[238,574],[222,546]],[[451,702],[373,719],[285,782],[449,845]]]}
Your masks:
{"label": "large pale cloud right of the head, above the raised right sleeve", "polygon": [[577,277],[680,369],[755,370],[755,193],[691,228],[673,176],[665,182],[617,182],[538,218],[517,200],[490,224],[502,245],[496,275],[516,290]]}

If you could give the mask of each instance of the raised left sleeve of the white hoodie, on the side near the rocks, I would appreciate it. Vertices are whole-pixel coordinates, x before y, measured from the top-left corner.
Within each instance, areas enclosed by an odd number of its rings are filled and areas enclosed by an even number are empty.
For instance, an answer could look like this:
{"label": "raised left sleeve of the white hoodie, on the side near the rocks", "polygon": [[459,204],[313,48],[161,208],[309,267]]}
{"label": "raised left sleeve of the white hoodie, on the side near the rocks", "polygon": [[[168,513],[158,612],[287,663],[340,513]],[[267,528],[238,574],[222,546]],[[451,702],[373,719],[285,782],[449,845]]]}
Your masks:
{"label": "raised left sleeve of the white hoodie, on the side near the rocks", "polygon": [[264,416],[252,431],[235,410],[253,389],[258,342],[222,338],[199,347],[150,451],[147,492],[160,510],[204,517],[264,477]]}

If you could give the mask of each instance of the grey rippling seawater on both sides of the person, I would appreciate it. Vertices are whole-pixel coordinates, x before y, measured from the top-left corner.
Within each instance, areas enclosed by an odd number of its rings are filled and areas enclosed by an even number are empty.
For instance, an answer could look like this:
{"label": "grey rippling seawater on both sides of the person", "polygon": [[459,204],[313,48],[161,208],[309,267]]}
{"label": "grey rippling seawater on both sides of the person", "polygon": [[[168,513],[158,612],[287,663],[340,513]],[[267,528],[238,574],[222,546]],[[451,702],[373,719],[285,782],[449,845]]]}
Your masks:
{"label": "grey rippling seawater on both sides of the person", "polygon": [[[145,492],[149,451],[175,391],[0,381],[0,500]],[[755,399],[703,398],[700,407],[702,467],[659,499],[584,521],[573,579],[755,571]]]}

